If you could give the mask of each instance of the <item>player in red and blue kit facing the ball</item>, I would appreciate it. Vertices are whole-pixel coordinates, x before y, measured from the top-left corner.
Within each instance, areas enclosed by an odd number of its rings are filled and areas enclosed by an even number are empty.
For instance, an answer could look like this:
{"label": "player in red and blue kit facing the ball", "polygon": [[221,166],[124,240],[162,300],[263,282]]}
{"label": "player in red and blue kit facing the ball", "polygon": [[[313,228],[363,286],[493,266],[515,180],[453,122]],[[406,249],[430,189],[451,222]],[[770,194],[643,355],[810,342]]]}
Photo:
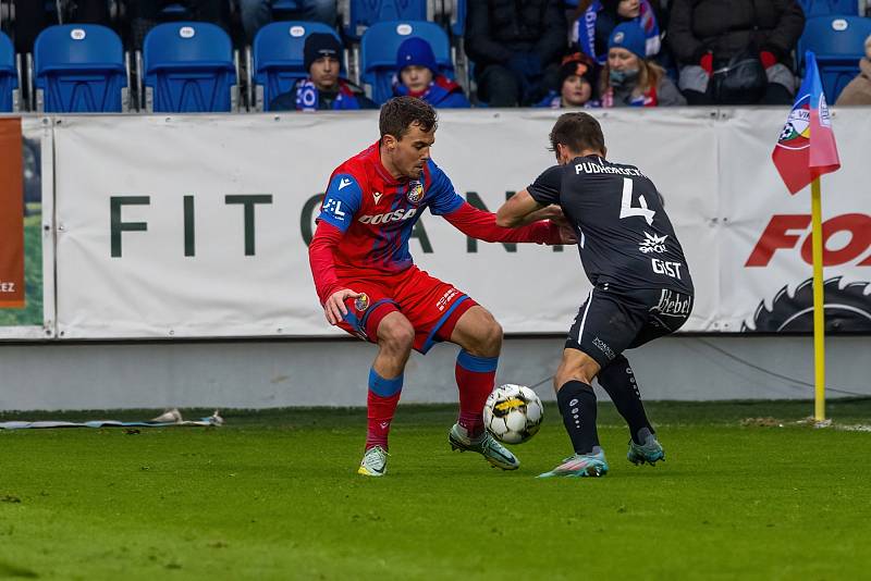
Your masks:
{"label": "player in red and blue kit facing the ball", "polygon": [[455,190],[430,159],[434,109],[414,97],[381,108],[381,138],[342,163],[330,184],[309,246],[309,262],[327,320],[378,345],[369,370],[368,432],[358,472],[387,470],[388,434],[412,349],[434,343],[461,347],[456,359],[459,417],[451,428],[453,449],[477,452],[493,466],[516,470],[517,458],[492,438],[482,412],[493,388],[502,327],[483,307],[453,285],[418,269],[408,239],[429,209],[461,232],[486,242],[574,244],[574,235],[544,208],[516,230],[496,226]]}

